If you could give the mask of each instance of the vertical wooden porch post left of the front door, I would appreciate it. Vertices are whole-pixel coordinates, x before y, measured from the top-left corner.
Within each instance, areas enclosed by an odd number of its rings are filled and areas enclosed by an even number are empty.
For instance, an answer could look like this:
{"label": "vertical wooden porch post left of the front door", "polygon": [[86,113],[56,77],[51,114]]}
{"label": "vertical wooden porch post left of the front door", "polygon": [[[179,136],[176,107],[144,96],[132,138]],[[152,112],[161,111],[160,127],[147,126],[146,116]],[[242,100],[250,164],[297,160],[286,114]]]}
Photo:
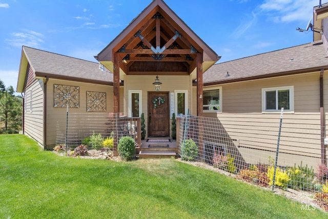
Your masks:
{"label": "vertical wooden porch post left of the front door", "polygon": [[119,113],[119,59],[118,54],[113,53],[113,105],[114,105],[114,113]]}

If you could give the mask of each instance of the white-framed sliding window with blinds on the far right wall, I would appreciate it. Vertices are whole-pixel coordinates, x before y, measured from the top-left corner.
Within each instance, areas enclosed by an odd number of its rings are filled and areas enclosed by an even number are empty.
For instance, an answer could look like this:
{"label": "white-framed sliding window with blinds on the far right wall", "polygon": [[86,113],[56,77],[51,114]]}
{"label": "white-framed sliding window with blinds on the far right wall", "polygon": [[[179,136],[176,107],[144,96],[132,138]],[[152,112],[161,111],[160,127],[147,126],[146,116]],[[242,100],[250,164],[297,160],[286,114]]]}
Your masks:
{"label": "white-framed sliding window with blinds on the far right wall", "polygon": [[262,112],[294,112],[294,86],[262,88]]}

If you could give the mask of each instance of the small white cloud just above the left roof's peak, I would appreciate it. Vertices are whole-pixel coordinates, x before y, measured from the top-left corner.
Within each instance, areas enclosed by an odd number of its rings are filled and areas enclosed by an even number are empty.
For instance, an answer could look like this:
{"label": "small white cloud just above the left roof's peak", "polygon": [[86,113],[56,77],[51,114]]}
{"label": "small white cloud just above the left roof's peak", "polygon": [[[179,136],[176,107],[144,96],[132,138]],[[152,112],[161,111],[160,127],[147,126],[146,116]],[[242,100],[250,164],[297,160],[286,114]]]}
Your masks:
{"label": "small white cloud just above the left roof's peak", "polygon": [[12,38],[6,39],[9,45],[14,47],[28,46],[33,48],[40,48],[41,44],[44,43],[42,33],[37,33],[32,30],[23,30],[23,32],[11,33]]}

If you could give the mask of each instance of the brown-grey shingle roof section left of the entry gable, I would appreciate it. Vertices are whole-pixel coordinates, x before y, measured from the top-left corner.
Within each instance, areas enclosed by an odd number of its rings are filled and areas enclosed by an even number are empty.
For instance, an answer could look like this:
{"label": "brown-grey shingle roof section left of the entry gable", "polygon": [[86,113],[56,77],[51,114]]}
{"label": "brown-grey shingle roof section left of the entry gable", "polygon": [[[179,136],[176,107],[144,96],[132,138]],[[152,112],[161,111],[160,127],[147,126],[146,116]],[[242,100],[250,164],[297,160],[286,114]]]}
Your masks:
{"label": "brown-grey shingle roof section left of the entry gable", "polygon": [[101,71],[98,63],[23,46],[23,50],[36,76],[50,78],[76,78],[76,81],[94,81],[108,84],[113,82],[113,74]]}

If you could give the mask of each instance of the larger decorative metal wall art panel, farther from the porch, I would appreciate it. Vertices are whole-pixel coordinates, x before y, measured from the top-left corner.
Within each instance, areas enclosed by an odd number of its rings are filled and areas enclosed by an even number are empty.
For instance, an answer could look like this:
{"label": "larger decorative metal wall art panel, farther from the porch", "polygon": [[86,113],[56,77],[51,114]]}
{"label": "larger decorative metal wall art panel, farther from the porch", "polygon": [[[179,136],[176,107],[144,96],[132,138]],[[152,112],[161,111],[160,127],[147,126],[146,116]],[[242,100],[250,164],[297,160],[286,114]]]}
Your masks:
{"label": "larger decorative metal wall art panel, farther from the porch", "polygon": [[79,87],[54,84],[53,91],[53,107],[79,108]]}

